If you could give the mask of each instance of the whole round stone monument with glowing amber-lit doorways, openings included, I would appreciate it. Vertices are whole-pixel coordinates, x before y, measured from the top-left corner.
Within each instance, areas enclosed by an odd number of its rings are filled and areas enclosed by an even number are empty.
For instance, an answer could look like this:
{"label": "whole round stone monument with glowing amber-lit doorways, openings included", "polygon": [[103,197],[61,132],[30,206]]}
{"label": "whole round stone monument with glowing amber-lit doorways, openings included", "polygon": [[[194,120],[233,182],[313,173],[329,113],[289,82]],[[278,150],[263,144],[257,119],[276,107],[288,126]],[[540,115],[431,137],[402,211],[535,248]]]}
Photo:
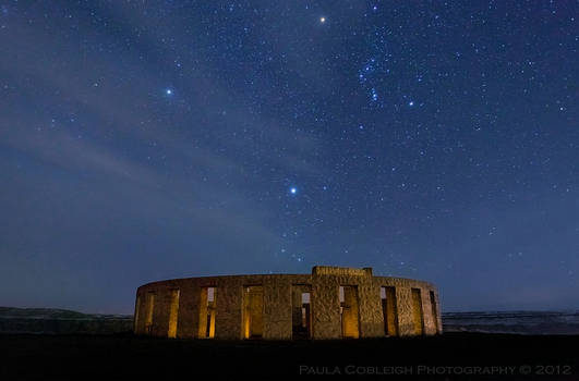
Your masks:
{"label": "whole round stone monument with glowing amber-lit doorways, openings included", "polygon": [[136,291],[134,332],[191,339],[359,339],[442,333],[436,287],[316,266],[311,274],[185,278]]}

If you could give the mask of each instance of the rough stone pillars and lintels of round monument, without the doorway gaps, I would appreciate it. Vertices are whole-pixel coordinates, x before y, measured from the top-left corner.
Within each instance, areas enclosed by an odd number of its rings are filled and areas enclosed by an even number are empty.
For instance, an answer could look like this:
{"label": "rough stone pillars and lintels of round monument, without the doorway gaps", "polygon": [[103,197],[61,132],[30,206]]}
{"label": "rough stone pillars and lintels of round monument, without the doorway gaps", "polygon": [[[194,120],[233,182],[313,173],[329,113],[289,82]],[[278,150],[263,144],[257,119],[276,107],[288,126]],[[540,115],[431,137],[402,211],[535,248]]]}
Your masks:
{"label": "rough stone pillars and lintels of round monument, without the doorway gaps", "polygon": [[[341,339],[343,324],[340,315],[340,286],[355,291],[357,299],[350,299],[348,305],[358,309],[358,324],[350,324],[346,330],[353,327],[358,330],[359,337],[386,335],[381,287],[394,287],[394,293],[390,292],[391,288],[388,292],[388,314],[394,314],[391,307],[395,303],[396,334],[414,335],[422,331],[423,334],[431,335],[442,332],[438,292],[433,284],[410,279],[373,276],[370,268],[314,267],[312,274],[203,276],[145,284],[137,290],[135,333],[155,336],[172,336],[174,333],[177,337],[205,339],[205,328],[201,325],[206,324],[207,319],[201,315],[207,299],[203,294],[207,287],[215,287],[214,337],[243,339],[244,306],[250,303],[246,300],[245,290],[251,286],[262,286],[261,337],[265,340],[292,339],[292,325],[295,325],[292,318],[297,319],[295,309],[292,311],[292,305],[295,305],[295,302],[292,304],[292,290],[311,291],[310,336]],[[412,288],[420,290],[420,299],[417,299],[417,292],[412,296]],[[431,292],[434,294],[434,308]],[[351,293],[348,293],[351,298]],[[396,295],[396,300],[393,300],[393,294]],[[154,300],[153,318],[147,319],[150,300]],[[417,311],[422,315],[422,319],[417,319]],[[433,316],[433,311],[437,316]],[[173,323],[176,320],[177,329]],[[417,328],[417,321],[422,323],[422,329]]]}

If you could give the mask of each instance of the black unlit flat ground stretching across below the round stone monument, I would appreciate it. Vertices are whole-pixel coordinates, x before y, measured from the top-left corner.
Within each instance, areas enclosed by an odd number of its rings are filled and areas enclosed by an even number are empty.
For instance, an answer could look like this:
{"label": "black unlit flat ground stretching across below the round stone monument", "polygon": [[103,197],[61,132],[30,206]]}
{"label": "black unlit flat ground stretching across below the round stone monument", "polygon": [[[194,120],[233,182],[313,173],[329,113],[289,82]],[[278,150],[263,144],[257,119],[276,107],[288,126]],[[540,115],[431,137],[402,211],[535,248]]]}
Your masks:
{"label": "black unlit flat ground stretching across below the round stone monument", "polygon": [[0,335],[0,380],[579,380],[579,335],[357,341]]}

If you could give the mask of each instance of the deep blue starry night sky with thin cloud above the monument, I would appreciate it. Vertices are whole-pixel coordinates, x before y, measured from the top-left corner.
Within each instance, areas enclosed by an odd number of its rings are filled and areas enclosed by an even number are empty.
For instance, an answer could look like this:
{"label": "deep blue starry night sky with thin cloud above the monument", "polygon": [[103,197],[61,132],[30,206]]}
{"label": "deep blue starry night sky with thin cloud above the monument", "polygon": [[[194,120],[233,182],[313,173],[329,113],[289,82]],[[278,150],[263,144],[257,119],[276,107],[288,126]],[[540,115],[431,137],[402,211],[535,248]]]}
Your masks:
{"label": "deep blue starry night sky with thin cloud above the monument", "polygon": [[577,308],[578,11],[0,0],[0,305],[329,265]]}

